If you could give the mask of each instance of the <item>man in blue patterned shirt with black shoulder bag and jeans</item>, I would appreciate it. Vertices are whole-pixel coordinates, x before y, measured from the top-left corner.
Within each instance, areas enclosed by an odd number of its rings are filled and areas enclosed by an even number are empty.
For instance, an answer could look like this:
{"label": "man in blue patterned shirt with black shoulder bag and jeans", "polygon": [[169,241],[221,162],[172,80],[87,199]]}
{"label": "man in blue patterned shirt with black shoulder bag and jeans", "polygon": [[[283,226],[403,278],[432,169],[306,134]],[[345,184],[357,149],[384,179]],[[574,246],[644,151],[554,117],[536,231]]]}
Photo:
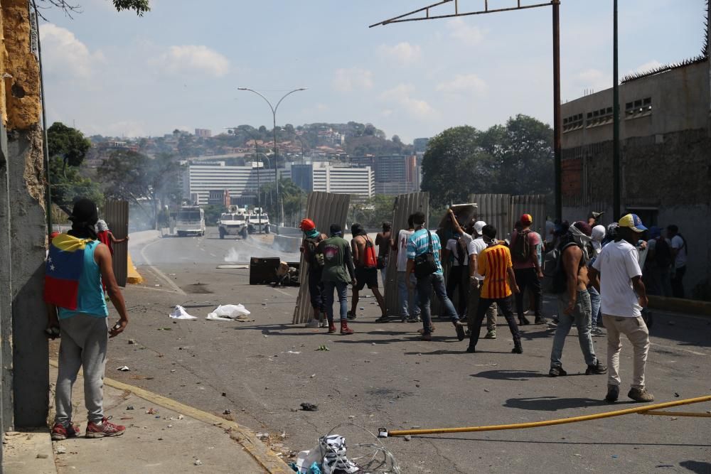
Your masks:
{"label": "man in blue patterned shirt with black shoulder bag and jeans", "polygon": [[[407,242],[407,273],[415,271],[415,259],[419,255],[430,252],[437,265],[437,269],[433,273],[417,277],[417,298],[422,317],[422,340],[432,340],[432,331],[434,330],[432,317],[429,313],[429,298],[432,296],[432,289],[442,303],[444,316],[449,317],[454,324],[457,338],[464,340],[464,325],[459,321],[459,316],[457,316],[451,300],[447,297],[447,289],[444,286],[442,264],[439,262],[439,252],[442,249],[439,236],[424,227],[424,212],[415,212],[412,215],[412,222],[415,223],[415,233]],[[410,280],[407,281],[407,285],[412,287]]]}

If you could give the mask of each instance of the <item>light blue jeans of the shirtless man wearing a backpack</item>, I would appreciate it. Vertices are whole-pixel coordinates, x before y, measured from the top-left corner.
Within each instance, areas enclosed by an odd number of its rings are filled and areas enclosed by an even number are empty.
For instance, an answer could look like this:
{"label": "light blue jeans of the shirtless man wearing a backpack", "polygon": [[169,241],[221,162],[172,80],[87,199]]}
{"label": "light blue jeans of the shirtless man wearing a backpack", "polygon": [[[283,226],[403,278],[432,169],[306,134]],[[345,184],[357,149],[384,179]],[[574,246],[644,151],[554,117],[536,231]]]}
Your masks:
{"label": "light blue jeans of the shirtless man wearing a backpack", "polygon": [[568,306],[568,293],[560,293],[558,295],[558,325],[555,328],[555,337],[553,338],[553,348],[550,351],[550,367],[562,367],[560,361],[563,355],[563,345],[565,338],[570,333],[570,328],[573,323],[577,326],[578,342],[580,349],[585,357],[587,365],[595,365],[597,356],[595,348],[592,345],[592,337],[590,336],[592,317],[592,308],[590,308],[590,294],[587,290],[578,290],[575,306],[571,314],[565,314],[565,308]]}

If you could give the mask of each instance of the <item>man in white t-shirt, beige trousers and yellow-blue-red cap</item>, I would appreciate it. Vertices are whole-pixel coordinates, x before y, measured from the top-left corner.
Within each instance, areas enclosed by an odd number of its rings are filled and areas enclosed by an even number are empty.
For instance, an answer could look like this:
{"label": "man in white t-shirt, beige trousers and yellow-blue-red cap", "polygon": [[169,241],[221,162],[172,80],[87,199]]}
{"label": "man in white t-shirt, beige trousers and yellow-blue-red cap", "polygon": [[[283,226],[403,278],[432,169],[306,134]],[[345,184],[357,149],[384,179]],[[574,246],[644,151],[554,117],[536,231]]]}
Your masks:
{"label": "man in white t-shirt, beige trousers and yellow-blue-red cap", "polygon": [[644,368],[649,352],[649,331],[641,309],[647,306],[647,293],[642,283],[642,271],[634,244],[647,230],[636,214],[619,220],[614,242],[602,248],[590,273],[590,279],[600,292],[602,321],[607,329],[608,402],[619,397],[620,334],[626,335],[634,350],[634,375],[627,394],[635,402],[653,402],[654,396],[644,385]]}

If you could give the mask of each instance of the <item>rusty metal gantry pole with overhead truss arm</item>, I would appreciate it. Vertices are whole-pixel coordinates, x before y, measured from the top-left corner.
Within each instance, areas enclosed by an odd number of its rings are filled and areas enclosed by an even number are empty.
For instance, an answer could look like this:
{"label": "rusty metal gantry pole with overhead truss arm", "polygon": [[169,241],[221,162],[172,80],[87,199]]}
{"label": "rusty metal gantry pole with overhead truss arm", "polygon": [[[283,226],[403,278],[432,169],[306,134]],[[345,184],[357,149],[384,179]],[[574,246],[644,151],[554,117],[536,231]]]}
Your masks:
{"label": "rusty metal gantry pole with overhead truss arm", "polygon": [[[459,0],[442,0],[437,3],[423,6],[417,10],[410,11],[406,14],[394,16],[387,20],[373,23],[373,26],[385,26],[391,23],[405,23],[407,21],[427,21],[437,20],[440,18],[456,18],[459,16],[472,16],[500,13],[502,11],[517,11],[526,9],[535,9],[544,6],[552,7],[553,21],[553,153],[555,156],[555,217],[562,219],[562,195],[561,195],[561,149],[560,149],[560,134],[561,134],[561,118],[560,118],[560,0],[550,0],[545,3],[538,4],[522,4],[522,0],[509,0],[512,4],[515,1],[515,6],[504,8],[489,8],[489,0],[480,0],[483,2],[483,10],[476,11],[461,11],[459,9]],[[448,5],[449,4],[449,5]],[[442,6],[454,6],[454,11],[440,14]]]}

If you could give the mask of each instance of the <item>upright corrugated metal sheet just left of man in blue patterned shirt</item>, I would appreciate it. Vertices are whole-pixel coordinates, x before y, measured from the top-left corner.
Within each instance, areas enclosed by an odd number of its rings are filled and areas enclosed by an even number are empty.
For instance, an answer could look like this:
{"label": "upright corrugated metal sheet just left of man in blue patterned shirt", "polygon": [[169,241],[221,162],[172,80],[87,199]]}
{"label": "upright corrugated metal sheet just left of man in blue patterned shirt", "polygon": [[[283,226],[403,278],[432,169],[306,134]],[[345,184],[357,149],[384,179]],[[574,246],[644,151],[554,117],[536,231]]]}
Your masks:
{"label": "upright corrugated metal sheet just left of man in blue patterned shirt", "polygon": [[[395,198],[392,213],[392,239],[397,244],[400,230],[407,229],[407,217],[413,212],[424,212],[424,222],[429,222],[429,193],[401,194]],[[395,257],[395,254],[392,254]],[[385,307],[390,316],[400,316],[400,292],[397,291],[397,258],[387,262],[385,281]]]}

